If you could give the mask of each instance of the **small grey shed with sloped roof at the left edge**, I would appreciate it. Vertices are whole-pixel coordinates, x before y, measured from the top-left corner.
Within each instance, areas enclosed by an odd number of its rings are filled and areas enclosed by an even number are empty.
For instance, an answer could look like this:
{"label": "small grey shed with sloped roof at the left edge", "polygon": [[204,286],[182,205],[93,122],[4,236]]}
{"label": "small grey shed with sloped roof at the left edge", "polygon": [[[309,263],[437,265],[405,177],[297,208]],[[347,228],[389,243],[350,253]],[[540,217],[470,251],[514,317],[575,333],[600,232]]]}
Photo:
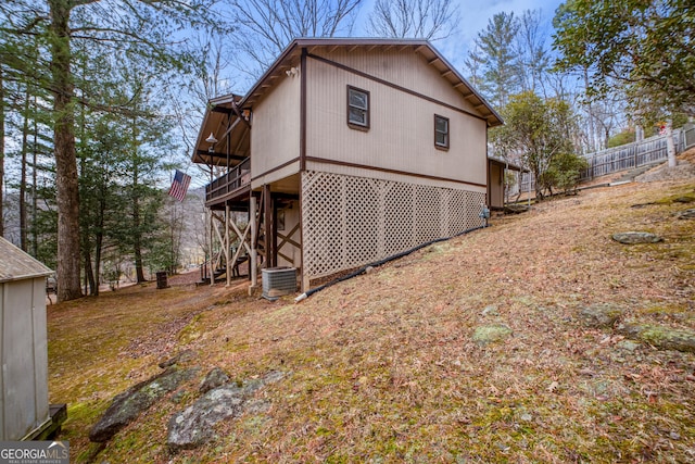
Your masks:
{"label": "small grey shed with sloped roof at the left edge", "polygon": [[0,441],[54,427],[48,400],[46,278],[52,271],[0,237]]}

